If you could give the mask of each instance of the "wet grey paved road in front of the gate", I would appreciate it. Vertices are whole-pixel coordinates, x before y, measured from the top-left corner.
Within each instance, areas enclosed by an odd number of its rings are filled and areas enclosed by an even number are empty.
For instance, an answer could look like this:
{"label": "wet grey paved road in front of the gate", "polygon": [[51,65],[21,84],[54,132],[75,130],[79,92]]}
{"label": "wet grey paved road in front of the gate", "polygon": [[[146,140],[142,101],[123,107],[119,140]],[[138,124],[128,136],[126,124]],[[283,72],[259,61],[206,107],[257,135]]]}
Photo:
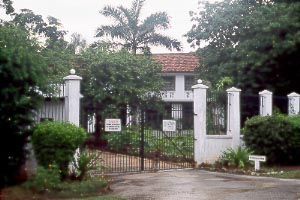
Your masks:
{"label": "wet grey paved road in front of the gate", "polygon": [[115,177],[113,194],[131,200],[300,200],[300,180],[175,170]]}

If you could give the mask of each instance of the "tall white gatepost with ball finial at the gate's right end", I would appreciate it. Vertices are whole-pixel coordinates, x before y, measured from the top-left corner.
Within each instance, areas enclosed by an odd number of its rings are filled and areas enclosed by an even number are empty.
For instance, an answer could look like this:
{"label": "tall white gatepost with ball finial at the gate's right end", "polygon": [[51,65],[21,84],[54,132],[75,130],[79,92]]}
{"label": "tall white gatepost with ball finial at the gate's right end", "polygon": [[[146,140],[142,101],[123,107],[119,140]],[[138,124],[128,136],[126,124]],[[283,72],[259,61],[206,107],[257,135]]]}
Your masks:
{"label": "tall white gatepost with ball finial at the gate's right end", "polygon": [[205,162],[204,142],[206,136],[206,92],[208,86],[202,80],[192,86],[194,92],[194,161],[196,166]]}

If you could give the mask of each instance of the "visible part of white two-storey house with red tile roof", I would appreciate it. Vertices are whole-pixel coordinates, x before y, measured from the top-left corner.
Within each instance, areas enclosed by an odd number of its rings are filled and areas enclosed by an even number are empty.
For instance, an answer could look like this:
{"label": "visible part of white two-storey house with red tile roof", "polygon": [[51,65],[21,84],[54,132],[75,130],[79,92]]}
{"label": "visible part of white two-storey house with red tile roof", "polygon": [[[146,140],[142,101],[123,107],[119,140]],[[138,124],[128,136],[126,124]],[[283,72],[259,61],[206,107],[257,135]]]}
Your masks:
{"label": "visible part of white two-storey house with red tile roof", "polygon": [[177,121],[178,129],[193,124],[193,91],[196,84],[199,58],[195,53],[161,53],[152,58],[162,64],[161,76],[165,81],[161,91],[167,118]]}

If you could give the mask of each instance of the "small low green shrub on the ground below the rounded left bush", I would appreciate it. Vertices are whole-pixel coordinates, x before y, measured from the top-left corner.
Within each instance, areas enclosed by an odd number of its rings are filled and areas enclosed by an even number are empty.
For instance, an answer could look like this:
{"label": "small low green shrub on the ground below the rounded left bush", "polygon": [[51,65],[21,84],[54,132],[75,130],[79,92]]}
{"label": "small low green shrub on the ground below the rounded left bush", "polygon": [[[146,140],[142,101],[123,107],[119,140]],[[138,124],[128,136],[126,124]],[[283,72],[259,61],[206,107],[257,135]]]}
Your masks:
{"label": "small low green shrub on the ground below the rounded left bush", "polygon": [[24,185],[36,192],[46,192],[59,189],[60,183],[60,170],[56,165],[49,165],[48,167],[38,166],[36,174]]}

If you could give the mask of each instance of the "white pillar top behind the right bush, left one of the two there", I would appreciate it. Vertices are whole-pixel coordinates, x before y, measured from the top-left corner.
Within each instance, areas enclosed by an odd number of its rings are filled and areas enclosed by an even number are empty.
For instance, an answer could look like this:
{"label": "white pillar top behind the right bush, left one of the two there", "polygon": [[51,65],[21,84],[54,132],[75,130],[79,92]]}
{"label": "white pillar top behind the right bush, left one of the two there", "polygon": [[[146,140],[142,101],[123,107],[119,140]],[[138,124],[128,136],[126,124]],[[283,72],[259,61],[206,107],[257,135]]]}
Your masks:
{"label": "white pillar top behind the right bush, left one of the two there", "polygon": [[268,90],[259,92],[260,106],[259,114],[261,116],[272,115],[272,97],[273,93]]}

